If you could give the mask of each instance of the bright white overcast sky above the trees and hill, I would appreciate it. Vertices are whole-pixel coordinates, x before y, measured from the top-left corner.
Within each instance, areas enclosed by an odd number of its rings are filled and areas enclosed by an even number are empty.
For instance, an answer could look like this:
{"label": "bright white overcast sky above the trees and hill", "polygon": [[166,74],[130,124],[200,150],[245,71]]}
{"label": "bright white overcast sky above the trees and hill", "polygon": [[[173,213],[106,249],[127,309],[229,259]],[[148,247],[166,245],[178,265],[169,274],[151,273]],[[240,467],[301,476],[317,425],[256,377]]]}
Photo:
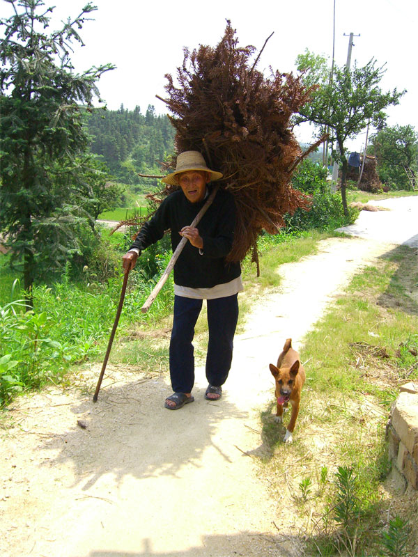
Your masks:
{"label": "bright white overcast sky above the trees and hill", "polygon": [[[78,15],[84,0],[45,0],[56,6],[52,28],[59,20]],[[268,41],[258,70],[295,71],[295,58],[308,48],[315,54],[332,56],[334,0],[96,0],[80,34],[86,44],[77,48],[72,61],[77,72],[100,63],[114,63],[98,86],[109,109],[121,103],[127,109],[154,104],[165,113],[164,74],[176,74],[183,62],[183,47],[215,46],[222,38],[226,19],[237,30],[241,46],[254,45],[259,51]],[[0,3],[1,17],[11,13],[6,1]],[[348,35],[354,38],[352,65],[365,65],[372,57],[386,63],[381,81],[383,91],[404,88],[408,93],[397,107],[388,110],[389,125],[413,125],[418,130],[417,32],[418,0],[336,0],[335,61],[346,63]],[[347,36],[344,36],[344,33]],[[311,141],[312,128],[297,132],[300,141]],[[365,133],[350,144],[362,150]]]}

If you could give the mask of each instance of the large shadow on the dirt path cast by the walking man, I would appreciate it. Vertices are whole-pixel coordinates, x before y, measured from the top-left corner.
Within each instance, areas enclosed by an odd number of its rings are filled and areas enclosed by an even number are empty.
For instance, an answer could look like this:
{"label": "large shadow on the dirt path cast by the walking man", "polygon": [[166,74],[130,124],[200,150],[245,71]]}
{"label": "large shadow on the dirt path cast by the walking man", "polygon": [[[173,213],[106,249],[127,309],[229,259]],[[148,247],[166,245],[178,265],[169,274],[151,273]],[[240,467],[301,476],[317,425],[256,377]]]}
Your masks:
{"label": "large shadow on the dirt path cast by the walking man", "polygon": [[[86,490],[107,473],[114,474],[116,483],[127,474],[136,478],[176,476],[184,464],[199,466],[208,446],[222,455],[212,439],[217,423],[245,418],[246,413],[227,397],[222,403],[208,402],[203,389],[194,391],[195,401],[175,411],[163,408],[170,391],[161,379],[108,386],[100,391],[95,404],[90,394],[84,395],[71,407],[76,415],[74,425],[42,439],[40,448],[55,455],[47,465],[70,462],[75,485],[81,482]],[[77,421],[82,421],[81,427]],[[53,422],[51,416],[52,431]],[[167,435],[167,430],[173,434]]]}

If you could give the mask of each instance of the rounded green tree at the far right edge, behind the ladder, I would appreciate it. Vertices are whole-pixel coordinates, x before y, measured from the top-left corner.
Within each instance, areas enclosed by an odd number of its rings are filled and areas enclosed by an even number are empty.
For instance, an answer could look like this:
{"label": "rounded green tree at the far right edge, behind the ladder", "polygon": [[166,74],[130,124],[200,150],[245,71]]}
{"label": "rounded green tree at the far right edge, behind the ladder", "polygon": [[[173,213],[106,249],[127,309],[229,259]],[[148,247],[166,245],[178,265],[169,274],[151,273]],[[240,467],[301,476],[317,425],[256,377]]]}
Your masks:
{"label": "rounded green tree at the far right edge, behind the ladder", "polygon": [[382,182],[408,189],[405,167],[417,168],[418,134],[410,125],[384,127],[371,137],[369,152],[376,156]]}

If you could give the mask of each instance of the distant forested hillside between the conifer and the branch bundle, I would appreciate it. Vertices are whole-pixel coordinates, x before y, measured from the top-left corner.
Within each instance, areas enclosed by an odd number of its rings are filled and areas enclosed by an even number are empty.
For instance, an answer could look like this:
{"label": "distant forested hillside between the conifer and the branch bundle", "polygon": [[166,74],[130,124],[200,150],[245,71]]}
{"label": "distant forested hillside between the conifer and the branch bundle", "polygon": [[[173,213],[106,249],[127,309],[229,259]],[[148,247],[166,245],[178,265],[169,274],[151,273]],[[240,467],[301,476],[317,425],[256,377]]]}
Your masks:
{"label": "distant forested hillside between the conifer and the branch bundle", "polygon": [[148,105],[133,111],[121,104],[118,110],[98,110],[88,115],[91,150],[100,155],[112,175],[128,185],[141,181],[138,173],[160,173],[160,162],[173,150],[174,130],[167,115],[156,114]]}

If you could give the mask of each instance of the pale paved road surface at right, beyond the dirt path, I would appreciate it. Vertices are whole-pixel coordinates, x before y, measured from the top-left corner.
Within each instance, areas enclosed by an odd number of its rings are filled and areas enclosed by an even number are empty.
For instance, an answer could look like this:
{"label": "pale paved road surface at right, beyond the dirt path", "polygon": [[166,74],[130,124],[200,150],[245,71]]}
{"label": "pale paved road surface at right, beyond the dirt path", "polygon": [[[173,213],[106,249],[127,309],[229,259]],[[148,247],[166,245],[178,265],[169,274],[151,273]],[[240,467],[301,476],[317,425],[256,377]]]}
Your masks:
{"label": "pale paved road surface at right, beyond the dirt path", "polygon": [[418,247],[418,196],[371,201],[369,205],[387,210],[361,211],[354,224],[339,228],[339,232],[388,244]]}

